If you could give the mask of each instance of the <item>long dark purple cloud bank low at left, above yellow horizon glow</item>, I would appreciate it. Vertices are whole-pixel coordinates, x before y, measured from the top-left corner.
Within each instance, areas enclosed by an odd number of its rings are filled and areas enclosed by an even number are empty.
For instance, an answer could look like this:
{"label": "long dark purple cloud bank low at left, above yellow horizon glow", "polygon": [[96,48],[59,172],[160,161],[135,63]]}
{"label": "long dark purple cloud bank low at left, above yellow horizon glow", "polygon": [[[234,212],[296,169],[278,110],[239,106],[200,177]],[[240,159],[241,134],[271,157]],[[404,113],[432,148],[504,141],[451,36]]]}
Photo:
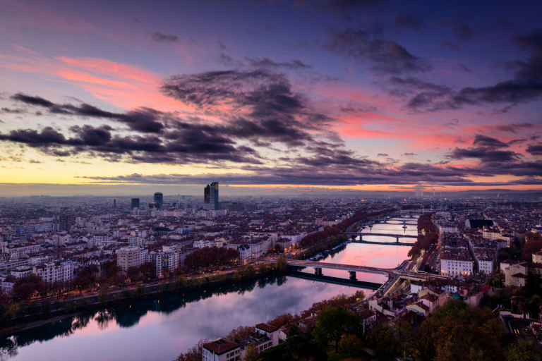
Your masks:
{"label": "long dark purple cloud bank low at left, above yellow horizon glow", "polygon": [[0,140],[22,143],[57,157],[86,152],[110,161],[171,164],[212,161],[261,163],[252,157],[257,155],[254,154],[254,149],[246,146],[236,148],[234,140],[220,135],[219,132],[210,133],[197,127],[172,131],[164,138],[157,135],[113,135],[109,126],[74,126],[70,130],[75,137],[66,137],[59,131],[46,127],[40,132],[26,129],[0,133]]}

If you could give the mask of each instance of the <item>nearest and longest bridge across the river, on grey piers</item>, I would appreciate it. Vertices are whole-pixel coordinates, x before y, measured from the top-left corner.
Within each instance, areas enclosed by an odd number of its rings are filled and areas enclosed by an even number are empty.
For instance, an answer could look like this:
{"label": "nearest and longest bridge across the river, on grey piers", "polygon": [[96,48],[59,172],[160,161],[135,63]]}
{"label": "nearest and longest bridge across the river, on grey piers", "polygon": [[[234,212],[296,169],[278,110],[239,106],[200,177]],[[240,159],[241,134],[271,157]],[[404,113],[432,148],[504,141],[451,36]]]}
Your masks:
{"label": "nearest and longest bridge across the river, on grey piers", "polygon": [[355,266],[351,264],[338,264],[338,263],[327,263],[327,262],[315,262],[315,261],[303,261],[301,259],[287,259],[289,266],[295,267],[313,267],[314,274],[316,276],[322,276],[322,269],[342,269],[348,271],[350,274],[350,280],[356,280],[356,272],[363,272],[369,274],[383,274],[388,277],[395,277],[398,279],[408,279],[409,281],[426,281],[431,278],[435,279],[447,279],[446,276],[440,276],[436,274],[426,274],[410,271],[402,271],[401,269],[387,269],[387,268],[378,268],[378,267],[366,267],[366,266]]}

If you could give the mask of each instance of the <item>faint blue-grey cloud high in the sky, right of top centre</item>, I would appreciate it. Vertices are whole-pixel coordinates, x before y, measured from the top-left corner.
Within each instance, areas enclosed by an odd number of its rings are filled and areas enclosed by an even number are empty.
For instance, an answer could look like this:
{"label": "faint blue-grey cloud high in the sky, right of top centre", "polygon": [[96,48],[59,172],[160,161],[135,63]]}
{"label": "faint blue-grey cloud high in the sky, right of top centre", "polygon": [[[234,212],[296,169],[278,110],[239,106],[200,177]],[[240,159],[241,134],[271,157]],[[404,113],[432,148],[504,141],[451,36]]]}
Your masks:
{"label": "faint blue-grey cloud high in the sky, right of top centre", "polygon": [[375,37],[370,32],[346,27],[344,30],[327,30],[328,42],[323,49],[339,55],[370,61],[371,68],[378,73],[413,73],[430,70],[425,59],[410,54],[397,42]]}

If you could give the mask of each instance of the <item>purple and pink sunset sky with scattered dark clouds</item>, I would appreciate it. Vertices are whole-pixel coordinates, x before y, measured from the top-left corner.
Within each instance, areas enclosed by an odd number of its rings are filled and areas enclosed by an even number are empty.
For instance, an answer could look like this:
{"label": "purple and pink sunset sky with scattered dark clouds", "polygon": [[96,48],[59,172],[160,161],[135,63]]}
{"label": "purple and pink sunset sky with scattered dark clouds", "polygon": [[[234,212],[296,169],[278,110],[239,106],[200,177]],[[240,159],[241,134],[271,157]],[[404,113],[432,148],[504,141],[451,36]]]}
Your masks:
{"label": "purple and pink sunset sky with scattered dark clouds", "polygon": [[538,1],[0,0],[0,194],[542,189]]}

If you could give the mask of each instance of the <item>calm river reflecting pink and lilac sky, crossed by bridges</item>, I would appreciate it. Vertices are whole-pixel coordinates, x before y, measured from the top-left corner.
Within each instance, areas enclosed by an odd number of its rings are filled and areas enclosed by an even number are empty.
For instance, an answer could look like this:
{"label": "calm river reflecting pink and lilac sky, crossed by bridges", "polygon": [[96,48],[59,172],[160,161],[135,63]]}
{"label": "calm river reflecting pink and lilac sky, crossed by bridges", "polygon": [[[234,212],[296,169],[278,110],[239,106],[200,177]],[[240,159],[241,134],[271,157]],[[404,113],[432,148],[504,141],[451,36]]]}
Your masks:
{"label": "calm river reflecting pink and lilac sky, crossed by bridges", "polygon": [[[402,224],[376,224],[372,233],[405,233]],[[408,225],[406,234],[416,234]],[[395,238],[364,236],[363,240],[394,243]],[[414,243],[413,238],[399,238]],[[349,243],[320,262],[397,267],[410,247]],[[306,269],[308,273],[313,269]],[[345,271],[324,274],[348,279]],[[361,281],[384,283],[378,274],[357,274]],[[266,322],[278,314],[301,312],[313,302],[334,295],[351,295],[359,288],[315,282],[294,276],[270,276],[233,286],[134,302],[101,312],[51,322],[0,338],[0,360],[171,361],[201,338],[227,336],[237,326]],[[364,290],[366,295],[374,291]]]}

